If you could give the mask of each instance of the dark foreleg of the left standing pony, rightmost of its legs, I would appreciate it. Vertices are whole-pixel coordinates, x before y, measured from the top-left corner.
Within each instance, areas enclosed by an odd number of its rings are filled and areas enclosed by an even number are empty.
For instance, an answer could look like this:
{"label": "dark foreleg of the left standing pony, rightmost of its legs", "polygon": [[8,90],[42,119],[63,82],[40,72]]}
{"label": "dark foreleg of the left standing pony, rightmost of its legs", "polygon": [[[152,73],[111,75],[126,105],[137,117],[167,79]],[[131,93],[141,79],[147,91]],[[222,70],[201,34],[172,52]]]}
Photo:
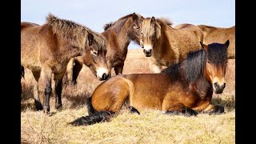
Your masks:
{"label": "dark foreleg of the left standing pony, rightmost of its legs", "polygon": [[55,108],[59,109],[62,107],[62,79],[64,74],[55,75]]}

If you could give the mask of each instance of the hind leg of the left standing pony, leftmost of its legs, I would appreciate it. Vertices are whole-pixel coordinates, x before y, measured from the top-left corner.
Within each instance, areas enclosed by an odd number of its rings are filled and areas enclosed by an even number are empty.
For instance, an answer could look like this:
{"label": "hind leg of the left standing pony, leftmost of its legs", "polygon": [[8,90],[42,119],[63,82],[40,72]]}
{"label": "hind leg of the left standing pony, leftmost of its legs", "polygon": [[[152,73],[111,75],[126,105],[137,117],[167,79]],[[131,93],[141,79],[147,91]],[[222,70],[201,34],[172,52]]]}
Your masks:
{"label": "hind leg of the left standing pony, leftmost of its legs", "polygon": [[34,95],[34,106],[36,110],[42,110],[42,103],[39,98],[38,94],[38,80],[40,77],[40,72],[38,71],[32,71],[32,74],[34,76],[34,81],[33,81],[33,95]]}

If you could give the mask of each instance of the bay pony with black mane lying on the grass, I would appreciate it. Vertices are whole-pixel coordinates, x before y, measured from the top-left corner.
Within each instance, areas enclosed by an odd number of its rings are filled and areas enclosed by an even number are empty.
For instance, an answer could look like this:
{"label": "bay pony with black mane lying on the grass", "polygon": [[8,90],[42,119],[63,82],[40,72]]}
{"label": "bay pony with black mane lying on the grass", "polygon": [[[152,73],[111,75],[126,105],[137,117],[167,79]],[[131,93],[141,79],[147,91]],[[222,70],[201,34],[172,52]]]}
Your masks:
{"label": "bay pony with black mane lying on the grass", "polygon": [[221,114],[223,106],[210,104],[213,92],[221,94],[227,63],[225,44],[202,44],[203,49],[191,51],[182,63],[174,64],[158,74],[117,75],[102,82],[90,99],[89,116],[70,124],[90,125],[109,120],[124,102],[131,112],[162,110],[166,114],[197,115],[198,112]]}

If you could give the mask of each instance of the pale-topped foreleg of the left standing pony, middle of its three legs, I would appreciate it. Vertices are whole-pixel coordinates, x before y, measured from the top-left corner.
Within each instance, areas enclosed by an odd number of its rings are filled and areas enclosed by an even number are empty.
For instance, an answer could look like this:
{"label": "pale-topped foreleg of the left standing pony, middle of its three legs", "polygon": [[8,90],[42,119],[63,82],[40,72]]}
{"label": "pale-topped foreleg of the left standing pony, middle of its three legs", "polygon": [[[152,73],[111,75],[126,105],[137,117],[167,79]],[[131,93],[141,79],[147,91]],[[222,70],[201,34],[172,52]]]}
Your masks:
{"label": "pale-topped foreleg of the left standing pony, middle of its three legs", "polygon": [[50,112],[50,94],[51,88],[51,75],[52,70],[48,66],[42,66],[42,80],[45,84],[45,98],[43,102],[43,112],[49,114]]}

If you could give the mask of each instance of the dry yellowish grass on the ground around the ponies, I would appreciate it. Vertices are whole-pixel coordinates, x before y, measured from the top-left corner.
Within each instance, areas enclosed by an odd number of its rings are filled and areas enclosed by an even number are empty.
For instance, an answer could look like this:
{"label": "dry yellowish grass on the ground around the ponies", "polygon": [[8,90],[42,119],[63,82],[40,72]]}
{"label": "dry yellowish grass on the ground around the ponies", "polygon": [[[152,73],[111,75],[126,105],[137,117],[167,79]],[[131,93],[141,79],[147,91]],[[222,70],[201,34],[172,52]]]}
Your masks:
{"label": "dry yellowish grass on the ground around the ponies", "polygon": [[[234,143],[234,63],[229,60],[226,71],[226,89],[214,94],[213,102],[225,106],[226,114],[198,114],[197,117],[169,116],[160,111],[144,110],[141,115],[130,114],[124,108],[110,122],[93,126],[70,126],[67,122],[87,114],[85,100],[101,82],[87,67],[78,76],[77,86],[64,84],[63,110],[54,109],[52,116],[34,111],[33,78],[26,70],[22,79],[21,137],[23,143]],[[123,74],[149,73],[148,58],[142,49],[129,50]],[[114,74],[114,71],[112,72]],[[65,82],[64,78],[64,82]],[[53,82],[54,86],[54,82]],[[39,81],[39,90],[43,88]],[[54,96],[54,94],[52,94]],[[41,98],[42,101],[42,98]]]}

